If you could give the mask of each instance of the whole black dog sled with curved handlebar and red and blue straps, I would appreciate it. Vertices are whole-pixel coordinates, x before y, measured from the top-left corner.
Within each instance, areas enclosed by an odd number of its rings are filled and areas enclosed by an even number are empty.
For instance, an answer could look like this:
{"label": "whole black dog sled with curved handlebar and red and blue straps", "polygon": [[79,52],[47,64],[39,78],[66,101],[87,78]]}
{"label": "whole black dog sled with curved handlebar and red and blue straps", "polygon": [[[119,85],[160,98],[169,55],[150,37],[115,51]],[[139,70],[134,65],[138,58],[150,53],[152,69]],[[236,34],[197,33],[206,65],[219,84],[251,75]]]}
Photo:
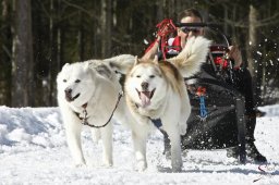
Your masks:
{"label": "whole black dog sled with curved handlebar and red and blue straps", "polygon": [[[159,32],[160,55],[168,59],[177,55],[180,49],[174,45],[168,46],[167,37],[173,30],[173,23],[165,21]],[[170,29],[166,28],[166,24]],[[226,149],[239,147],[239,160],[245,163],[245,120],[244,97],[233,87],[232,61],[226,58],[229,42],[216,25],[206,23],[178,23],[177,27],[203,27],[205,37],[213,40],[207,62],[202,72],[185,79],[192,106],[192,113],[187,120],[186,135],[181,137],[182,149]],[[172,42],[172,44],[173,44]],[[180,42],[179,42],[180,45]],[[162,51],[162,52],[161,52]],[[177,52],[175,52],[177,51]],[[168,151],[168,137],[165,133],[165,150]]]}

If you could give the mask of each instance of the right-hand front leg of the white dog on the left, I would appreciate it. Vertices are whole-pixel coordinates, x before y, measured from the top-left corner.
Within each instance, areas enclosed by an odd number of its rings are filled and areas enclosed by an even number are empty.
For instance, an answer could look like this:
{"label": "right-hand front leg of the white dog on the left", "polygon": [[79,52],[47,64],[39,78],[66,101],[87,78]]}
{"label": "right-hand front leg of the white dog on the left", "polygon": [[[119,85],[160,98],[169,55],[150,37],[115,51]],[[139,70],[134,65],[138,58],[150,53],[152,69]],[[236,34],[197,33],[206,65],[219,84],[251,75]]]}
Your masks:
{"label": "right-hand front leg of the white dog on the left", "polygon": [[104,165],[112,166],[112,123],[109,123],[106,127],[100,128],[102,140],[102,161]]}

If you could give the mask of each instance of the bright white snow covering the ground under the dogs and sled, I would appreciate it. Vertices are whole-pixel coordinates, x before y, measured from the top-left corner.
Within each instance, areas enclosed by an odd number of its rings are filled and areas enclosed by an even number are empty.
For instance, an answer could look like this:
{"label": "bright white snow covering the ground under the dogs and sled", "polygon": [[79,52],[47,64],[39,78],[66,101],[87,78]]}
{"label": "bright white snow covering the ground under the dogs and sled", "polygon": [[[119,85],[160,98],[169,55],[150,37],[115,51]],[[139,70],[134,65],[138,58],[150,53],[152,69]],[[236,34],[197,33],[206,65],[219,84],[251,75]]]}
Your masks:
{"label": "bright white snow covering the ground under the dogs and sled", "polygon": [[279,104],[260,110],[267,114],[257,120],[255,137],[266,165],[239,164],[226,150],[190,150],[183,156],[183,172],[171,173],[156,131],[147,143],[148,169],[140,173],[133,169],[131,133],[119,123],[113,123],[114,165],[101,165],[101,145],[94,144],[85,128],[82,141],[88,164],[75,168],[58,108],[0,107],[0,184],[279,184]]}

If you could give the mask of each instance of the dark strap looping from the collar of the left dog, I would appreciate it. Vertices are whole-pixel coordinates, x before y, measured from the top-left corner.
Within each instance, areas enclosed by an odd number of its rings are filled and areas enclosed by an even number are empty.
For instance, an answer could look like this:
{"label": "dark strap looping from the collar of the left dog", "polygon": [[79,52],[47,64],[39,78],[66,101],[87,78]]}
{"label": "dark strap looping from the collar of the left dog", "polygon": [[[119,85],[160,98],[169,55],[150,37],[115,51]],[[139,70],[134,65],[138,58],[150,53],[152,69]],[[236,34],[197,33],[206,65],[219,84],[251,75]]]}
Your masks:
{"label": "dark strap looping from the collar of the left dog", "polygon": [[87,122],[87,120],[88,120],[88,118],[87,118],[87,111],[86,111],[87,103],[85,103],[86,106],[83,106],[83,109],[84,109],[84,110],[83,110],[83,113],[84,113],[84,116],[83,116],[83,118],[80,118],[80,114],[78,114],[77,112],[75,112],[75,114],[76,114],[76,116],[77,116],[80,120],[82,120],[82,124],[83,124],[83,125],[86,125],[86,126],[89,126],[89,127],[94,127],[94,128],[101,128],[101,127],[105,127],[105,126],[107,126],[107,125],[110,123],[110,121],[111,121],[111,119],[112,119],[112,116],[113,116],[113,113],[114,113],[114,111],[117,110],[118,104],[119,104],[120,99],[121,99],[122,96],[123,96],[123,91],[119,92],[119,95],[118,95],[118,101],[117,101],[117,103],[116,103],[116,107],[114,107],[114,109],[112,110],[112,113],[110,114],[109,120],[108,120],[104,125],[97,126],[97,125],[89,124],[89,123]]}

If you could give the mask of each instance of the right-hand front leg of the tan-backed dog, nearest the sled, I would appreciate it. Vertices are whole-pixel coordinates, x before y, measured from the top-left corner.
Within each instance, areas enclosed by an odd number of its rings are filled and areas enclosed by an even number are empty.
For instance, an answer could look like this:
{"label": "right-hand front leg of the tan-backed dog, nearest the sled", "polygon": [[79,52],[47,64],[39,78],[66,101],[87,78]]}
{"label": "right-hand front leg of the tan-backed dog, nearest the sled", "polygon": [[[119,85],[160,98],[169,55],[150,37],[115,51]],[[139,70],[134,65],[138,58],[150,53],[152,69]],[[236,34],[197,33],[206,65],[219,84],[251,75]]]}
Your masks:
{"label": "right-hand front leg of the tan-backed dog, nearest the sled", "polygon": [[181,172],[182,157],[180,147],[180,131],[179,127],[172,127],[167,131],[171,143],[171,166],[173,172]]}

